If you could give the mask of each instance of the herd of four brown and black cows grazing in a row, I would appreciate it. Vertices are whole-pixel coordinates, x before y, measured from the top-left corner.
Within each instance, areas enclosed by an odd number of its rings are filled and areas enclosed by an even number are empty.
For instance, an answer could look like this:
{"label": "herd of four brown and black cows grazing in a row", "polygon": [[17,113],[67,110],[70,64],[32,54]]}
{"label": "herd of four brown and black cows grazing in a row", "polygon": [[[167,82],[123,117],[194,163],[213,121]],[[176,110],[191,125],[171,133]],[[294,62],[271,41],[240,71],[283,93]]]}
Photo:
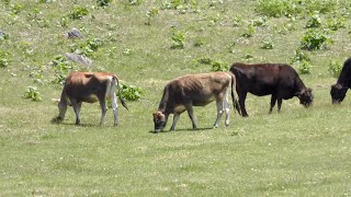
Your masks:
{"label": "herd of four brown and black cows grazing in a row", "polygon": [[[99,101],[101,106],[100,124],[103,124],[107,111],[106,99],[110,99],[114,114],[114,125],[117,125],[117,96],[115,89],[118,86],[118,79],[112,73],[70,73],[61,92],[58,103],[59,115],[55,120],[64,120],[67,105],[70,105],[76,113],[76,124],[78,125],[80,124],[82,102],[94,103]],[[351,58],[344,61],[337,83],[331,85],[332,103],[342,102],[349,88],[351,88]],[[234,90],[237,92],[238,101],[235,97]],[[158,132],[165,129],[170,114],[173,114],[173,123],[170,130],[174,130],[180,114],[185,111],[192,121],[193,129],[196,129],[193,106],[205,106],[213,101],[216,101],[217,106],[217,118],[214,127],[218,127],[223,113],[226,114],[225,125],[228,126],[229,91],[234,107],[244,117],[248,116],[245,106],[248,92],[257,96],[271,95],[270,113],[272,113],[276,102],[278,111],[280,112],[283,100],[294,96],[298,97],[299,103],[305,107],[310,106],[314,101],[312,89],[306,88],[298,73],[288,65],[245,65],[236,62],[230,67],[229,72],[186,74],[176,78],[166,84],[159,107],[152,114],[155,131]],[[122,96],[120,96],[120,100],[122,105],[127,108]]]}

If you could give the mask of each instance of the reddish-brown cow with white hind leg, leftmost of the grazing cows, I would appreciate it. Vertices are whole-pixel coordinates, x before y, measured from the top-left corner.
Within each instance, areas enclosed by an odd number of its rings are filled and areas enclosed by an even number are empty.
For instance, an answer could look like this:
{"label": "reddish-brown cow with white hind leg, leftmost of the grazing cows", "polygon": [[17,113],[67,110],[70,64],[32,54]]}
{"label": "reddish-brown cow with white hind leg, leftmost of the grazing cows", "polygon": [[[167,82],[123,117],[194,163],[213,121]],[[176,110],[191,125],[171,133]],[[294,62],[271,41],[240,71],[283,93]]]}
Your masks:
{"label": "reddish-brown cow with white hind leg, leftmost of the grazing cows", "polygon": [[[118,123],[117,116],[117,99],[115,94],[118,79],[115,74],[105,72],[72,72],[65,82],[60,101],[58,103],[59,115],[56,120],[61,121],[65,118],[67,105],[73,107],[76,113],[76,125],[80,124],[80,108],[82,102],[95,103],[100,102],[101,121],[104,123],[107,106],[106,99],[111,99],[112,111],[114,115],[114,125]],[[122,105],[127,108],[125,102],[120,96]]]}

